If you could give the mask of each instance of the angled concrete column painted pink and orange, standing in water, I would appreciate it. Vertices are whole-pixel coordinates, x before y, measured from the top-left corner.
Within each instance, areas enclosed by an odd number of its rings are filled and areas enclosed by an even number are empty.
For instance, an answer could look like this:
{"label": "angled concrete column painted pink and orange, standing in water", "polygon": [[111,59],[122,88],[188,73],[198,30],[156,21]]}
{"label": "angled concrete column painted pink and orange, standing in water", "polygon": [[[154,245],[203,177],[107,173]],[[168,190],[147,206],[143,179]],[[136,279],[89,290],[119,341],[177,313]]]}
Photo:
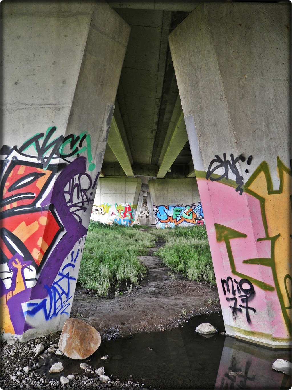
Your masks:
{"label": "angled concrete column painted pink and orange, standing in water", "polygon": [[169,37],[228,335],[291,342],[290,4],[202,3]]}

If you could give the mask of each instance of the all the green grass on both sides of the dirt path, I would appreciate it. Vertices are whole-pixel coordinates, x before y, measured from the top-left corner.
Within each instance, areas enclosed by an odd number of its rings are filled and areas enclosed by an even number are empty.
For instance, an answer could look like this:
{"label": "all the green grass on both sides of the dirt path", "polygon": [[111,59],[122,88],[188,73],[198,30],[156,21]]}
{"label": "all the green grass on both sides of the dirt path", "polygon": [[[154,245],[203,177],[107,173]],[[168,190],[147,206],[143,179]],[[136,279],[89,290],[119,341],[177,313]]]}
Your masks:
{"label": "all the green grass on both sides of the dirt path", "polygon": [[[141,226],[141,225],[140,225]],[[213,263],[204,226],[174,229],[139,229],[90,221],[78,281],[82,287],[105,296],[122,283],[138,284],[146,267],[137,256],[147,254],[158,238],[165,245],[156,254],[165,266],[190,280],[216,285]],[[175,279],[172,273],[171,277]]]}

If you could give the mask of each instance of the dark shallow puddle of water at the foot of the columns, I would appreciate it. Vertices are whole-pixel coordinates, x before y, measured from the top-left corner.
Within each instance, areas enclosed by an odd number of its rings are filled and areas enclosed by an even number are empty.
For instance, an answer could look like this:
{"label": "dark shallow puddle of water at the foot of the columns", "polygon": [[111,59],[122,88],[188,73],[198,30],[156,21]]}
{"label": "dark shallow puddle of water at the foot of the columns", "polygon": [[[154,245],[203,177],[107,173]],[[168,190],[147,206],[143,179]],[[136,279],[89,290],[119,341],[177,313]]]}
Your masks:
{"label": "dark shallow puddle of water at the foot of the columns", "polygon": [[[211,323],[218,333],[208,339],[196,333],[202,322]],[[157,390],[291,387],[291,377],[271,368],[277,358],[291,361],[291,351],[239,342],[220,332],[224,332],[221,313],[196,316],[171,331],[143,332],[102,342],[90,360],[84,361],[94,368],[104,365],[105,374],[113,379],[138,381]],[[100,362],[103,355],[110,356],[109,362]],[[49,378],[60,376],[48,372],[56,361],[63,362],[64,376],[84,373],[81,360],[56,355],[53,360],[41,369]]]}

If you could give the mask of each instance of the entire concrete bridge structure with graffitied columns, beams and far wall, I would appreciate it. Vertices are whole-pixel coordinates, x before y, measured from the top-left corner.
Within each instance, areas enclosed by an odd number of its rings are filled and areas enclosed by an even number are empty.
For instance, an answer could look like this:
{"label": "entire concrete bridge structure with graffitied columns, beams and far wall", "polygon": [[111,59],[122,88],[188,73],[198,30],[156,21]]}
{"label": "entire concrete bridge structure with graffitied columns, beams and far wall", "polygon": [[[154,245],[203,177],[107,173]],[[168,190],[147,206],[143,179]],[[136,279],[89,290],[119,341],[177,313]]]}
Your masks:
{"label": "entire concrete bridge structure with graffitied columns, beams and far wall", "polygon": [[4,339],[62,328],[95,218],[206,225],[226,333],[290,345],[290,9],[2,2]]}

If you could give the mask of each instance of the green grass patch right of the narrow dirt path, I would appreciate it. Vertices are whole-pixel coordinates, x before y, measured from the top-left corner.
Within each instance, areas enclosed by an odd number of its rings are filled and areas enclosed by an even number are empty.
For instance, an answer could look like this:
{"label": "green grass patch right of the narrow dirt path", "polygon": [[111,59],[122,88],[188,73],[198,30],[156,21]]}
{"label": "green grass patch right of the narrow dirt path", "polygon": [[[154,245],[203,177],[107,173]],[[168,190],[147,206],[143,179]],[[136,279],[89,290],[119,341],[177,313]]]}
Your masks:
{"label": "green grass patch right of the narrow dirt path", "polygon": [[168,268],[183,273],[190,280],[216,285],[206,227],[157,229],[154,234],[158,232],[166,242],[157,255]]}

